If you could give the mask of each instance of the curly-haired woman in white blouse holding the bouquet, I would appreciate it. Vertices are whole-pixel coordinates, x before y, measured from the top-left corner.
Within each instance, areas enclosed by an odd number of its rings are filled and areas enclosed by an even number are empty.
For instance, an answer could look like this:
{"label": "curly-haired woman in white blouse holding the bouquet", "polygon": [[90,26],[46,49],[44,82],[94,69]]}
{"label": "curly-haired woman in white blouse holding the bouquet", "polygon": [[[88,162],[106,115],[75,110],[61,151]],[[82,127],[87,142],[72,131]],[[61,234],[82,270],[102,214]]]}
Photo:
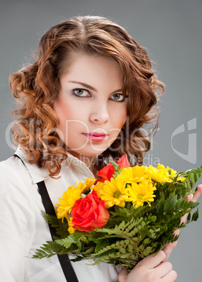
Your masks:
{"label": "curly-haired woman in white blouse holding the bouquet", "polygon": [[[57,257],[30,258],[51,240],[38,183],[44,181],[55,206],[68,186],[96,176],[109,159],[127,154],[142,164],[150,149],[143,128],[154,123],[157,88],[164,92],[164,85],[122,27],[87,16],[50,28],[34,64],[12,74],[10,88],[19,105],[12,128],[19,147],[1,163],[1,276],[9,282],[66,281]],[[174,246],[146,257],[130,274],[108,264],[88,266],[91,260],[71,265],[82,282],[175,281],[166,262]]]}

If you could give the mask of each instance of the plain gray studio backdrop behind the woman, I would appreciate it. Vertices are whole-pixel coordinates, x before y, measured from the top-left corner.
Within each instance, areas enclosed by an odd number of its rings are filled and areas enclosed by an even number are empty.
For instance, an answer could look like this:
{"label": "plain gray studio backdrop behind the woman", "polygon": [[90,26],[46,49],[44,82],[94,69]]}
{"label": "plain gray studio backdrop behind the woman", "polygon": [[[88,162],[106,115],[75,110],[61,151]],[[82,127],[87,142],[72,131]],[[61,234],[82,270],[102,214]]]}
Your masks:
{"label": "plain gray studio backdrop behind the woman", "polygon": [[[159,160],[178,171],[202,164],[201,0],[1,0],[0,4],[0,161],[14,152],[6,141],[14,107],[8,87],[9,74],[27,61],[52,25],[75,15],[103,15],[122,25],[147,48],[159,79],[166,83],[166,94],[159,101],[159,131],[145,164]],[[196,137],[197,145],[194,140],[188,142],[187,132],[187,121],[195,118],[197,126],[189,134]],[[171,147],[172,133],[182,124],[185,132],[173,137],[173,147],[185,155],[188,149],[193,156],[196,153],[194,163],[183,159]],[[178,282],[202,280],[201,222],[200,207],[198,222],[182,230],[171,255]]]}

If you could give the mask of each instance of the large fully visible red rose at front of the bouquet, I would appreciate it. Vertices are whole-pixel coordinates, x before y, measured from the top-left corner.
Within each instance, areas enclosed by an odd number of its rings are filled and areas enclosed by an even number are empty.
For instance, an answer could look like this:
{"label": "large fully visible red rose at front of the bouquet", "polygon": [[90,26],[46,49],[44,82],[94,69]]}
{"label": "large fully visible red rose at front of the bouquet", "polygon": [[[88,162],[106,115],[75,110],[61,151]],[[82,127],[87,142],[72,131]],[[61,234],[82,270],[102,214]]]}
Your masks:
{"label": "large fully visible red rose at front of the bouquet", "polygon": [[105,201],[98,198],[96,191],[78,199],[71,210],[73,228],[80,231],[92,231],[96,227],[103,227],[110,217]]}

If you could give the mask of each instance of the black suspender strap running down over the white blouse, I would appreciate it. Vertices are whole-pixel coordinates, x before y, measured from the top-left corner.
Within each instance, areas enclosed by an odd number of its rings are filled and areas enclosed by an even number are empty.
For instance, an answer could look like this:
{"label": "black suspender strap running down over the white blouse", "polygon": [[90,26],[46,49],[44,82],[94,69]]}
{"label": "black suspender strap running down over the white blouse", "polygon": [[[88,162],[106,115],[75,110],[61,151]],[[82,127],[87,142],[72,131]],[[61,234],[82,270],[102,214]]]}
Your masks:
{"label": "black suspender strap running down over the white blouse", "polygon": [[[17,156],[16,154],[14,156]],[[19,159],[20,156],[17,156]],[[22,161],[23,162],[23,161]],[[45,208],[45,213],[48,213],[49,215],[55,215],[55,209],[52,205],[52,201],[50,200],[50,196],[48,194],[48,191],[45,187],[44,181],[36,183],[38,185],[38,192],[41,194],[41,198],[43,201],[43,206]],[[52,241],[54,241],[53,236],[58,236],[55,229],[52,228],[49,225],[50,234],[52,236]],[[73,267],[71,266],[71,262],[68,260],[68,255],[57,255],[59,262],[61,264],[62,270],[64,272],[64,276],[66,278],[66,281],[68,282],[78,282],[78,278],[75,275],[75,272],[73,270]]]}

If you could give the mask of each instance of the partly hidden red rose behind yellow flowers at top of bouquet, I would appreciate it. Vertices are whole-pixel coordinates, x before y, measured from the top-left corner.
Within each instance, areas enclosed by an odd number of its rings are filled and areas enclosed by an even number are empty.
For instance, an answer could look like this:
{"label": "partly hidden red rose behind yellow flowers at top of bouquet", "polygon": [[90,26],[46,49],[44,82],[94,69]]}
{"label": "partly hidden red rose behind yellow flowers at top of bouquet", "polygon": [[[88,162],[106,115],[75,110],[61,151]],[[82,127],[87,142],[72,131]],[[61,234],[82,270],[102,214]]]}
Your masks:
{"label": "partly hidden red rose behind yellow flowers at top of bouquet", "polygon": [[[119,165],[120,168],[129,168],[129,161],[127,158],[127,155],[125,154],[117,161],[117,165]],[[111,177],[115,174],[115,168],[112,163],[109,163],[107,166],[104,166],[99,172],[97,173],[98,176],[103,177],[104,180],[110,181]],[[96,182],[101,181],[97,180]],[[96,184],[96,183],[94,183]]]}

